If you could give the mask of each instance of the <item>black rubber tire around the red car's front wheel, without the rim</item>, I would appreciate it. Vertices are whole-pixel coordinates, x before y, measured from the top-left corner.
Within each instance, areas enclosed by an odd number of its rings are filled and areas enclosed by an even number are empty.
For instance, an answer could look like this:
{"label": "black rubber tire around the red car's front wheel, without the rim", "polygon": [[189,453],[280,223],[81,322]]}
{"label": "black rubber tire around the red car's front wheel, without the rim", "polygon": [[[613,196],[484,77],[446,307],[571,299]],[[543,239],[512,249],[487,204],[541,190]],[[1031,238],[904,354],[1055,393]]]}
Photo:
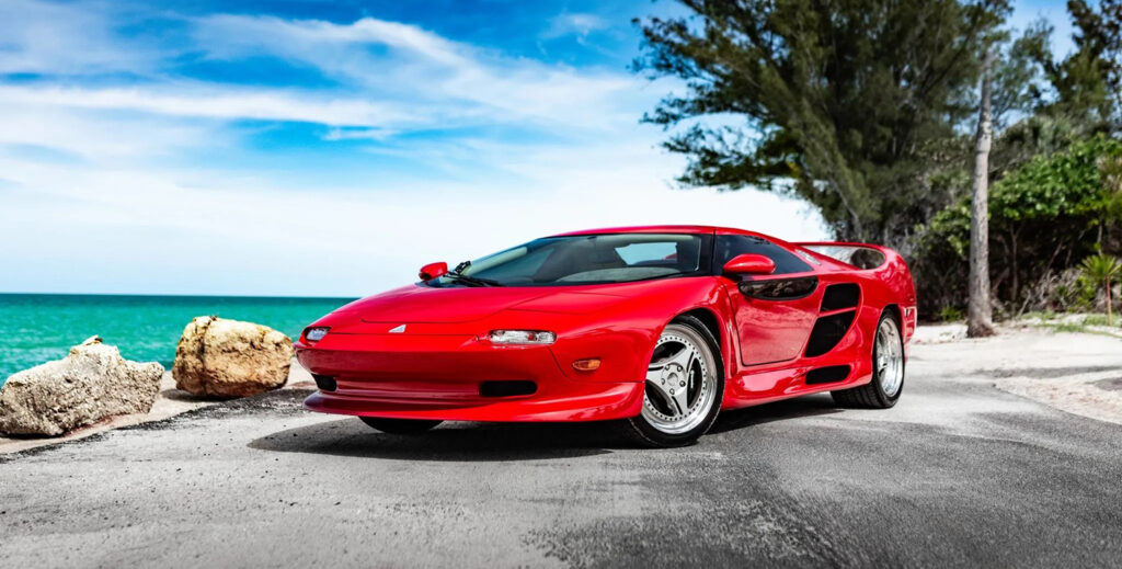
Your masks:
{"label": "black rubber tire around the red car's front wheel, without the rim", "polygon": [[[717,420],[717,413],[720,412],[720,404],[725,394],[725,369],[720,357],[720,345],[712,337],[712,333],[709,332],[709,329],[700,320],[682,315],[668,324],[666,330],[678,330],[680,332],[688,330],[692,333],[693,338],[700,340],[698,348],[707,350],[703,356],[708,356],[712,362],[711,375],[714,377],[712,389],[715,395],[711,403],[709,403],[709,409],[705,411],[703,419],[696,426],[682,433],[671,434],[663,432],[652,425],[642,413],[619,422],[619,431],[626,439],[647,448],[686,447],[697,442],[698,438],[705,434],[712,426],[714,421]],[[663,333],[666,333],[666,330]],[[644,396],[643,404],[646,405],[646,397]]]}

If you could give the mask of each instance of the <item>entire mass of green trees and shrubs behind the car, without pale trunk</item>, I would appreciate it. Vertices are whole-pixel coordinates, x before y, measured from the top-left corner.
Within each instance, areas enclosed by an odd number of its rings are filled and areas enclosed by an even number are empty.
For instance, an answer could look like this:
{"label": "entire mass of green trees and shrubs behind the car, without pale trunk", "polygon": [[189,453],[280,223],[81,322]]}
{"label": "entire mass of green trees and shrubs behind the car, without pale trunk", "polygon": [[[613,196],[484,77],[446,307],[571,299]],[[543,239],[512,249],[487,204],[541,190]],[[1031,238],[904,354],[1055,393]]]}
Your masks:
{"label": "entire mass of green trees and shrubs behind the car, without pale trunk", "polygon": [[640,21],[635,68],[686,81],[644,118],[688,157],[683,184],[800,198],[836,238],[900,249],[921,314],[962,309],[992,51],[999,313],[1048,287],[1083,299],[1076,264],[1122,254],[1122,0],[1068,1],[1075,48],[1060,57],[1051,24],[1010,29],[1008,0],[678,1],[690,16]]}

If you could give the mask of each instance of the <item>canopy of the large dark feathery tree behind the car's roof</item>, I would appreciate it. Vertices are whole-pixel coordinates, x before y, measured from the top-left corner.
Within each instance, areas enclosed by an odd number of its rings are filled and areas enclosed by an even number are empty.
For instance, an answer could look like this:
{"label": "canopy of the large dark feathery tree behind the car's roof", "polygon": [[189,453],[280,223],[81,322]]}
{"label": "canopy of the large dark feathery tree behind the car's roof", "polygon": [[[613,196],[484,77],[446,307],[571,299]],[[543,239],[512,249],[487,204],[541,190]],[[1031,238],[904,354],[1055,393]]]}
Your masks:
{"label": "canopy of the large dark feathery tree behind the car's roof", "polygon": [[692,16],[640,22],[635,67],[688,83],[645,117],[677,127],[682,183],[790,193],[893,245],[947,203],[923,166],[973,113],[1005,0],[680,1]]}

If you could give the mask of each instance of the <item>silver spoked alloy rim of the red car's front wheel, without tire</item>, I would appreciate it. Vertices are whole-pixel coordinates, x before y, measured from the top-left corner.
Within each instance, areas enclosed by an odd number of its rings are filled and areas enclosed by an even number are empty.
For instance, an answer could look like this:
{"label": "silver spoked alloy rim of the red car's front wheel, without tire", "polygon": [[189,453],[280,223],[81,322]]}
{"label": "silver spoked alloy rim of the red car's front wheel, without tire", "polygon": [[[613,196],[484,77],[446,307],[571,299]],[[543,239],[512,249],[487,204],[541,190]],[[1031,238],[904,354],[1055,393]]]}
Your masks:
{"label": "silver spoked alloy rim of the red car's front wheel, without tire", "polygon": [[696,429],[717,396],[716,368],[701,334],[681,324],[668,325],[647,366],[643,419],[666,434]]}

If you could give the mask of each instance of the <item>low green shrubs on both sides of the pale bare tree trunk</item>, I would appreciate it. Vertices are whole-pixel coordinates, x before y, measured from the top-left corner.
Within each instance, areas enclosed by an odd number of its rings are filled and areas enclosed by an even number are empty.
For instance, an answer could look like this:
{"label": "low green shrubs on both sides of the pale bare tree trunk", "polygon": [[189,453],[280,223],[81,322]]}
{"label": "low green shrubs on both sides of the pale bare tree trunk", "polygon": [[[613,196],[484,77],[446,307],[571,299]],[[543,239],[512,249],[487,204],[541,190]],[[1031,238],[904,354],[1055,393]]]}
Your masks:
{"label": "low green shrubs on both sides of the pale bare tree trunk", "polygon": [[[999,296],[1019,310],[1026,285],[1097,250],[1115,250],[1122,192],[1110,177],[1122,167],[1122,143],[1097,136],[1052,156],[1038,156],[994,184],[990,194],[991,272]],[[936,215],[917,251],[926,313],[965,299],[969,203]]]}

